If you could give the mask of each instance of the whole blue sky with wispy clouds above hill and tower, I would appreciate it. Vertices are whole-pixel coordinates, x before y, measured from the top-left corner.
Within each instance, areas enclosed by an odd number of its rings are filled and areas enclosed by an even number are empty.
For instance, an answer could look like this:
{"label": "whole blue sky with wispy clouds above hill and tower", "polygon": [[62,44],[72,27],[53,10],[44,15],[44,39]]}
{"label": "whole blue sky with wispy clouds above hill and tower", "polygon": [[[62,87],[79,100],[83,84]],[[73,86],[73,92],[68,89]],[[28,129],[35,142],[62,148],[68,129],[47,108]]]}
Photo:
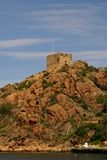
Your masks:
{"label": "whole blue sky with wispy clouds above hill and tower", "polygon": [[107,66],[107,0],[0,0],[0,86],[44,70],[52,44]]}

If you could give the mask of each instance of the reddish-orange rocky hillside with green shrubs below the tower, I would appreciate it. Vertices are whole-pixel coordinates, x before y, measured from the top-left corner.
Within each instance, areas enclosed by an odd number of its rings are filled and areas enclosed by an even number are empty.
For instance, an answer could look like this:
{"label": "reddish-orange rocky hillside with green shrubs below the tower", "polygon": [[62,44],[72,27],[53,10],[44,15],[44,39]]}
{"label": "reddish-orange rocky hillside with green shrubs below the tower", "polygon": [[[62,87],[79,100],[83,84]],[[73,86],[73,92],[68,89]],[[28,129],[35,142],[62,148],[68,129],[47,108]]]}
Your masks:
{"label": "reddish-orange rocky hillside with green shrubs below the tower", "polygon": [[2,150],[66,150],[105,141],[107,107],[100,98],[106,94],[106,71],[83,61],[1,88]]}

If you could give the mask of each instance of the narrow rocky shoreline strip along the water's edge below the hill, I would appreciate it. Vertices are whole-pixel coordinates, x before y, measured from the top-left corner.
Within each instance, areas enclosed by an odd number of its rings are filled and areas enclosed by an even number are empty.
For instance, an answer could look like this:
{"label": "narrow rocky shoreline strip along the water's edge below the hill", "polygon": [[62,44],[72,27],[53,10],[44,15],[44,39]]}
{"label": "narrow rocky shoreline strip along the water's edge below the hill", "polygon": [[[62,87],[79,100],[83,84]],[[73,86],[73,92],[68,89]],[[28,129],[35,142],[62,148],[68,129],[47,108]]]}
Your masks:
{"label": "narrow rocky shoreline strip along the water's edge below the hill", "polygon": [[75,147],[62,147],[62,146],[54,146],[54,147],[24,147],[19,146],[15,149],[8,148],[8,147],[0,147],[0,153],[7,152],[7,153],[17,153],[17,152],[25,152],[25,153],[46,153],[46,152],[73,152],[73,153],[107,153],[107,147],[100,147],[100,146],[75,146]]}

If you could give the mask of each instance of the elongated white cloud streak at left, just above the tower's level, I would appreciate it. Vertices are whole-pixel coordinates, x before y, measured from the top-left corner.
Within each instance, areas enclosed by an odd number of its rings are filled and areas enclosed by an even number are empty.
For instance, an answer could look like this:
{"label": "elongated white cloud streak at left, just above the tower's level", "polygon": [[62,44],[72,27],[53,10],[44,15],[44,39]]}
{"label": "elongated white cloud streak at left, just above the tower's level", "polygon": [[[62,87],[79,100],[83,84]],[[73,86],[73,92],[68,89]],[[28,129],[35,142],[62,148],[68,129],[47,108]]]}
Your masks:
{"label": "elongated white cloud streak at left, just above the tower's level", "polygon": [[38,45],[38,44],[52,42],[52,40],[56,41],[58,39],[57,38],[53,38],[53,39],[52,38],[23,38],[23,39],[1,40],[0,49]]}

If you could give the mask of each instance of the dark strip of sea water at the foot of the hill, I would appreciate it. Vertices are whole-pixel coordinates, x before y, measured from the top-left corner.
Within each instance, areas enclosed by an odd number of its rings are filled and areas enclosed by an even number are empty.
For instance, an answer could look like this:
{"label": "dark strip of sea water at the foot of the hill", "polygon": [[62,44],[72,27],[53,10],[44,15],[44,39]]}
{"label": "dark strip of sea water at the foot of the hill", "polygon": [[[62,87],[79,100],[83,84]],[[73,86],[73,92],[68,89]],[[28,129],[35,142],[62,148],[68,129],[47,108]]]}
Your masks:
{"label": "dark strip of sea water at the foot of the hill", "polygon": [[0,160],[107,160],[103,153],[0,153]]}

